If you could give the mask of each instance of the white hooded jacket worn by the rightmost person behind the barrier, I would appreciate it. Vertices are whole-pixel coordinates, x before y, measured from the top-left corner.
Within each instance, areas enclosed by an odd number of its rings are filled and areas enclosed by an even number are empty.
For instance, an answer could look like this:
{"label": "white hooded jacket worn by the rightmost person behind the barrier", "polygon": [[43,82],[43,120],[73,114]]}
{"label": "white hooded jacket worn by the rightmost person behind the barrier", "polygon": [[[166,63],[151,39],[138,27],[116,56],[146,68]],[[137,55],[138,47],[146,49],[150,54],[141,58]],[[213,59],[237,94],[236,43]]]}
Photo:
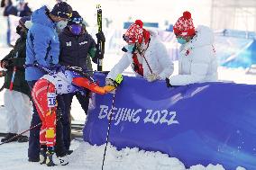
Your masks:
{"label": "white hooded jacket worn by the rightmost person behind the barrier", "polygon": [[170,85],[188,85],[217,81],[217,59],[214,32],[198,26],[195,37],[180,47],[178,76],[169,78]]}

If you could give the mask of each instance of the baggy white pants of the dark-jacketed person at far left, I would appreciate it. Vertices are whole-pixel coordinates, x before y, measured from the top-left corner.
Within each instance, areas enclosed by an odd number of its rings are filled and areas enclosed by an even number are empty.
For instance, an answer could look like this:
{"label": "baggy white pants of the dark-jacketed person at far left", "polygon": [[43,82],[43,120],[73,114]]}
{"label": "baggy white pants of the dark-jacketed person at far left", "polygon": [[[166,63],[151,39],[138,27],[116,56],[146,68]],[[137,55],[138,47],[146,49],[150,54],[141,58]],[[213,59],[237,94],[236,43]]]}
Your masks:
{"label": "baggy white pants of the dark-jacketed person at far left", "polygon": [[[5,90],[4,103],[6,109],[6,131],[21,133],[30,128],[32,103],[30,98],[17,91]],[[25,133],[23,135],[28,135]]]}

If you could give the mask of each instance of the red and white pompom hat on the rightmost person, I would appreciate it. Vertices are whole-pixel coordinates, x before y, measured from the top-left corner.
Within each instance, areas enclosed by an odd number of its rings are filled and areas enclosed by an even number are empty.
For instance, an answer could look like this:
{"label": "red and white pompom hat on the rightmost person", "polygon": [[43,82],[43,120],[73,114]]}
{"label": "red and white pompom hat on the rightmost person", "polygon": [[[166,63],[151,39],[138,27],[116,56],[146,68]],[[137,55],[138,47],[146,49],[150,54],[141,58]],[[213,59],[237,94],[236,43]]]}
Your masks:
{"label": "red and white pompom hat on the rightmost person", "polygon": [[183,16],[178,18],[178,21],[173,26],[173,31],[176,35],[187,37],[195,35],[195,27],[191,18],[191,13],[184,12]]}

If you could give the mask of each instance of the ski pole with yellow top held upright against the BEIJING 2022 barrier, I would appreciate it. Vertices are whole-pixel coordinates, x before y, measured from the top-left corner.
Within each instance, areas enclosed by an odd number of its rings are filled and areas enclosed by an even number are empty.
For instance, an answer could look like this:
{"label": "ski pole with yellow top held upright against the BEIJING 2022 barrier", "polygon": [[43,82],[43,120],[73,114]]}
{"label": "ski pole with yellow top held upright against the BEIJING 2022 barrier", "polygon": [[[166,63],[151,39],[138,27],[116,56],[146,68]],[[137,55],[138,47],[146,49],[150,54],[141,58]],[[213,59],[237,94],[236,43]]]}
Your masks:
{"label": "ski pole with yellow top held upright against the BEIJING 2022 barrier", "polygon": [[[121,74],[119,74],[118,76],[116,76],[116,78],[114,80],[114,84],[117,86],[117,85],[120,85],[122,82],[123,82],[123,76]],[[109,141],[109,134],[110,134],[110,128],[111,128],[113,109],[114,109],[114,101],[115,101],[114,99],[115,99],[115,93],[113,94],[111,111],[110,111],[110,116],[109,116],[109,120],[108,120],[107,133],[106,133],[106,139],[105,139],[104,156],[103,156],[103,161],[102,161],[102,166],[101,166],[102,170],[103,170],[104,163],[105,163],[105,153],[106,153],[106,148],[107,148],[107,144]]]}

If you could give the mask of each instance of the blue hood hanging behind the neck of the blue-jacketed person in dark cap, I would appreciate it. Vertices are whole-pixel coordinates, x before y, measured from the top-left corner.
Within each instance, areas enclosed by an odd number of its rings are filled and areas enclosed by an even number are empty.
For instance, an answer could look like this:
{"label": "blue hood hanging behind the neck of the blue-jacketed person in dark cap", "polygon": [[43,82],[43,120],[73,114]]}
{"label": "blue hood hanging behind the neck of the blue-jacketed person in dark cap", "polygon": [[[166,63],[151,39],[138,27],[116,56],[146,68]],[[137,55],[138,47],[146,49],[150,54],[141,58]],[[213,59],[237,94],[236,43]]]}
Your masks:
{"label": "blue hood hanging behind the neck of the blue-jacketed person in dark cap", "polygon": [[55,23],[50,20],[50,18],[46,15],[46,11],[48,8],[46,6],[42,6],[38,10],[32,13],[32,23],[39,23],[41,25],[47,27],[55,27]]}

